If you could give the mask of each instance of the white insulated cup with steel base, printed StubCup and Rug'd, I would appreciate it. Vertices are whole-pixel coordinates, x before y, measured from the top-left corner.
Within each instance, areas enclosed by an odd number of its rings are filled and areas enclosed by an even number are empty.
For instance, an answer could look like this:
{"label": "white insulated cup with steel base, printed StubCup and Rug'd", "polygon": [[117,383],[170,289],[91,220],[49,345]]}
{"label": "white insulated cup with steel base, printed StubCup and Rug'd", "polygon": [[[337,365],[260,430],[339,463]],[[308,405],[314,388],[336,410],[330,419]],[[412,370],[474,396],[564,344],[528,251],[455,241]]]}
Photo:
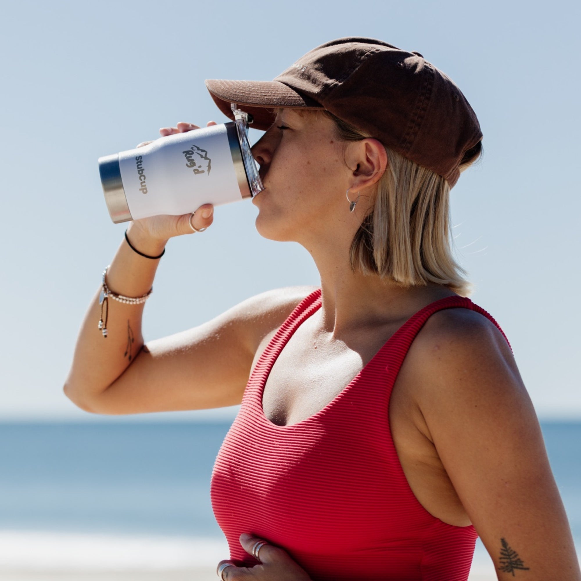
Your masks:
{"label": "white insulated cup with steel base, printed StubCup and Rug'd", "polygon": [[160,214],[181,216],[203,204],[252,198],[264,187],[250,152],[248,114],[161,137],[99,158],[105,202],[114,223]]}

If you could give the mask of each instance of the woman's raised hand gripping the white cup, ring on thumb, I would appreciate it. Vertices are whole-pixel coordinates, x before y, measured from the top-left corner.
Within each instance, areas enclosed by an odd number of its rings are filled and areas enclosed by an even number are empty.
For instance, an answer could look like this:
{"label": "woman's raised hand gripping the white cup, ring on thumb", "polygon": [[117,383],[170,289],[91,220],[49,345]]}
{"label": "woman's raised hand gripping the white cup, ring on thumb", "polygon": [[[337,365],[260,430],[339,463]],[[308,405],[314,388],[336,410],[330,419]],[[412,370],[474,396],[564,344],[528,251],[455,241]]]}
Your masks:
{"label": "woman's raised hand gripping the white cup, ring on thumb", "polygon": [[[216,125],[216,122],[209,121],[209,123],[206,124],[206,127],[210,127],[211,125]],[[176,127],[162,127],[159,130],[159,133],[162,137],[167,137],[168,135],[185,133],[199,128],[199,125],[180,121]],[[144,147],[150,143],[152,142],[144,141],[137,145],[137,147]],[[130,231],[133,228],[137,228],[139,232],[137,233],[134,231],[134,236],[139,234],[139,238],[148,238],[152,242],[156,242],[160,246],[163,246],[168,239],[173,238],[173,236],[195,233],[195,231],[190,227],[190,217],[191,213],[184,214],[183,216],[162,215],[141,218],[141,220],[132,221]],[[211,204],[205,204],[195,211],[191,224],[194,228],[201,230],[202,228],[209,227],[213,222],[213,219],[214,207]]]}

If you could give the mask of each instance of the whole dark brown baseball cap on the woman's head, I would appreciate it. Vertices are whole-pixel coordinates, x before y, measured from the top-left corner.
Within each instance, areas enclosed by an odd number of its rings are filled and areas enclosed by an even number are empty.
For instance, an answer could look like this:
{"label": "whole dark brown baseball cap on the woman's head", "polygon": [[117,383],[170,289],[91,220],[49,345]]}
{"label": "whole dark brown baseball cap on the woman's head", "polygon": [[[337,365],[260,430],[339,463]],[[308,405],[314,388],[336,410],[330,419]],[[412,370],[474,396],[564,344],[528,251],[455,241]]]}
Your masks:
{"label": "whole dark brown baseball cap on the woman's head", "polygon": [[454,82],[418,52],[372,38],[339,38],[307,52],[273,81],[206,81],[220,110],[231,103],[267,130],[279,107],[326,109],[452,187],[464,153],[482,139]]}

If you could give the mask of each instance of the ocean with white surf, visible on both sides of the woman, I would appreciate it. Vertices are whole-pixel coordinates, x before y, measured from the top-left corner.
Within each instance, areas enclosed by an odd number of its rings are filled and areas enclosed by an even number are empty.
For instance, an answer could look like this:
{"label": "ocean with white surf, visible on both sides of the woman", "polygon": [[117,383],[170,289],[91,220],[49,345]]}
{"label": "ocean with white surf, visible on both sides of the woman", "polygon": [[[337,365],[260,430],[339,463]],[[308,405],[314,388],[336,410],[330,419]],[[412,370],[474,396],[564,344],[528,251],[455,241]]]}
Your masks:
{"label": "ocean with white surf, visible on both sides of the woman", "polygon": [[[164,568],[227,558],[210,475],[229,425],[0,422],[0,568]],[[541,427],[579,548],[581,422]]]}

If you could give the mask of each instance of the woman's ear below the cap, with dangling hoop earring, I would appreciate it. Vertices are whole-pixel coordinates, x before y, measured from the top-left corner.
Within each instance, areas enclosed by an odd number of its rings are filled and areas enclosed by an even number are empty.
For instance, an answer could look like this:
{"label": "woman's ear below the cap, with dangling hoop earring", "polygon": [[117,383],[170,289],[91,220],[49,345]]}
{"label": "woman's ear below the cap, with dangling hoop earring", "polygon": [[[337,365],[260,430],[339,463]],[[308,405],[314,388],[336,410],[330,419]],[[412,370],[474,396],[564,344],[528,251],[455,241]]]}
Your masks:
{"label": "woman's ear below the cap, with dangling hoop earring", "polygon": [[379,181],[388,167],[388,154],[381,141],[371,137],[352,141],[345,155],[347,166],[352,170],[353,192],[361,192]]}

